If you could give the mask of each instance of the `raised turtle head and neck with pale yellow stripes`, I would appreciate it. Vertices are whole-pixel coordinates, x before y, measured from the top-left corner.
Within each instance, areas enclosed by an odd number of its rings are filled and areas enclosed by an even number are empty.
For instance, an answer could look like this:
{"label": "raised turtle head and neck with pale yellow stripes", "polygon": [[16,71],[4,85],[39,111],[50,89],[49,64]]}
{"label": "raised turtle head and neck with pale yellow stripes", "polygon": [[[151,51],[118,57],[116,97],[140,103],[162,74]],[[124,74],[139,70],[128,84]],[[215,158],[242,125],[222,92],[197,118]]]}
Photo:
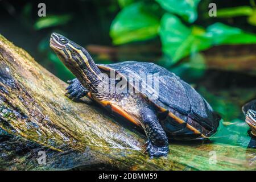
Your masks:
{"label": "raised turtle head and neck with pale yellow stripes", "polygon": [[51,34],[49,42],[59,59],[79,78],[82,85],[98,81],[101,71],[85,48],[57,33]]}

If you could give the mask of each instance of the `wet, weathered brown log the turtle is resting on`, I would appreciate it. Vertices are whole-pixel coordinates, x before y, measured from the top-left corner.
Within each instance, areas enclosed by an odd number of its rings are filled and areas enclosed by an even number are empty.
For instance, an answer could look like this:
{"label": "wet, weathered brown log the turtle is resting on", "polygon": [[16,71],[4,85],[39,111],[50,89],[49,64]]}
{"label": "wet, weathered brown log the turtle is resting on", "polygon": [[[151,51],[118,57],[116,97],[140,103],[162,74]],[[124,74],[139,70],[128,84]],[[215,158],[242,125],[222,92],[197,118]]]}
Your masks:
{"label": "wet, weathered brown log the turtle is resting on", "polygon": [[256,169],[254,149],[225,144],[170,143],[167,158],[151,160],[142,154],[143,133],[86,99],[69,100],[66,86],[0,35],[0,169]]}

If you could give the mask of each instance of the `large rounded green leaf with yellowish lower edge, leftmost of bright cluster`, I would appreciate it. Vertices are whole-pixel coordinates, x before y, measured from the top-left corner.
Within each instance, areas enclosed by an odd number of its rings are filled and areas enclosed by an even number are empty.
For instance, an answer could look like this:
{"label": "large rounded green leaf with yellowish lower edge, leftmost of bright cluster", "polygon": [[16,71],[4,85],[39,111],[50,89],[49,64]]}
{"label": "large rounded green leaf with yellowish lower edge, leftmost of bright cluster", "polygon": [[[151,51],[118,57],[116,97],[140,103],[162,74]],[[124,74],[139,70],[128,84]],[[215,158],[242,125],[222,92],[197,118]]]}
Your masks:
{"label": "large rounded green leaf with yellowish lower edge, leftmost of bright cluster", "polygon": [[125,7],[115,17],[110,27],[114,44],[147,40],[158,35],[159,18],[155,15],[158,5],[142,2]]}

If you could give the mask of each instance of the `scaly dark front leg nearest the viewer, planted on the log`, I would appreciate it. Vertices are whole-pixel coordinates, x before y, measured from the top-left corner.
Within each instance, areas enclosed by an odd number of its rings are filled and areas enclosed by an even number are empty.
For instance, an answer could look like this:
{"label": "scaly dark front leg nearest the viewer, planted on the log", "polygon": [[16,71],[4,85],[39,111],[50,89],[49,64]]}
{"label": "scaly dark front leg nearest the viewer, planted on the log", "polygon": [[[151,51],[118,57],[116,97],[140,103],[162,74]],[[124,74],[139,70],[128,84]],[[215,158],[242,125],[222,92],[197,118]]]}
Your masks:
{"label": "scaly dark front leg nearest the viewer, planted on the log", "polygon": [[167,156],[169,152],[168,138],[156,117],[155,110],[151,107],[145,107],[140,110],[140,115],[148,139],[146,143],[148,155],[150,158]]}

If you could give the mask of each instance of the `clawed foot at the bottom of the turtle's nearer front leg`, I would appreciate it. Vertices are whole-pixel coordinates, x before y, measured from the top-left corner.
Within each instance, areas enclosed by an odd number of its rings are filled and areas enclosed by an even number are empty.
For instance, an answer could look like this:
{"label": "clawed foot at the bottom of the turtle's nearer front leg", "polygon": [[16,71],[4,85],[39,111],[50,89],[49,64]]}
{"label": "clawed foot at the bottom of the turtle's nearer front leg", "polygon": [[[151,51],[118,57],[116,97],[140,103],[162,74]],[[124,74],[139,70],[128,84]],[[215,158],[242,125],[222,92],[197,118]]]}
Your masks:
{"label": "clawed foot at the bottom of the turtle's nearer front leg", "polygon": [[169,147],[168,146],[154,146],[150,141],[147,141],[147,147],[144,150],[144,153],[147,153],[150,157],[150,159],[153,159],[154,157],[159,158],[160,156],[167,156],[169,152]]}

